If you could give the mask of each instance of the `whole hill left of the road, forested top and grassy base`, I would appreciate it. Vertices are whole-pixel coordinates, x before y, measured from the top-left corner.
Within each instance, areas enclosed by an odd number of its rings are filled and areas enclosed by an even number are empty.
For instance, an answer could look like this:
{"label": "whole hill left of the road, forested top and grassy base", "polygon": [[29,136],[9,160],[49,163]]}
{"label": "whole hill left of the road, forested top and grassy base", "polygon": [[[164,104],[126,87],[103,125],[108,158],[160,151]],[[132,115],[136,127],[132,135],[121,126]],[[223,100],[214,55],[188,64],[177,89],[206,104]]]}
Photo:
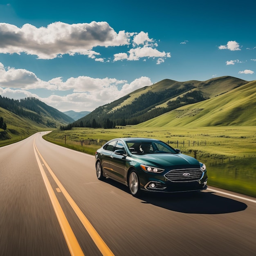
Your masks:
{"label": "whole hill left of the road, forested top and grassy base", "polygon": [[0,139],[25,137],[39,130],[59,128],[74,121],[36,98],[13,100],[1,96],[0,117],[7,124],[7,130],[0,131]]}

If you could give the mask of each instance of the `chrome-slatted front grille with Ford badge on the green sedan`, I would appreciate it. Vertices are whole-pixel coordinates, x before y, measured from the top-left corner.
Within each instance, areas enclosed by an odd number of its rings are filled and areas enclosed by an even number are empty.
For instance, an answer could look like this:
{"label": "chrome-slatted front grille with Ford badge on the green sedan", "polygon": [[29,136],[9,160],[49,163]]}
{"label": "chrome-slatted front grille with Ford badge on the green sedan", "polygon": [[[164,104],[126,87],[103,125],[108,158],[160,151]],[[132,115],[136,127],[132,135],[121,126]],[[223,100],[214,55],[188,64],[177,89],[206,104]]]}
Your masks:
{"label": "chrome-slatted front grille with Ford badge on the green sedan", "polygon": [[200,169],[178,169],[171,170],[164,176],[173,182],[190,182],[200,180],[202,175],[203,172]]}

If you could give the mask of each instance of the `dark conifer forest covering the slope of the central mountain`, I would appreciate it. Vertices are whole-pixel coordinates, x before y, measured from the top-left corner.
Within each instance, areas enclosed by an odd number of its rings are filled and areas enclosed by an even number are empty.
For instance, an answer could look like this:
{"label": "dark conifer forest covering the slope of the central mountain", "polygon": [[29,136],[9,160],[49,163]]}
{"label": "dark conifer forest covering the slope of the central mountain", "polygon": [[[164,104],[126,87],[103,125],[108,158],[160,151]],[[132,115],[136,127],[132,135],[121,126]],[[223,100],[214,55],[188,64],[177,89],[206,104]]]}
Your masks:
{"label": "dark conifer forest covering the slope of the central mountain", "polygon": [[[126,96],[96,108],[89,115],[68,126],[61,127],[61,129],[69,130],[72,127],[115,128],[116,126],[140,124],[181,106],[205,100],[202,93],[198,90],[192,90],[193,88],[193,83],[187,83],[183,88],[165,89],[160,92],[150,90],[135,98],[132,103],[112,110],[130,97]],[[184,94],[179,96],[182,93]],[[166,107],[159,107],[159,105],[174,97],[177,97],[177,99],[169,100]]]}

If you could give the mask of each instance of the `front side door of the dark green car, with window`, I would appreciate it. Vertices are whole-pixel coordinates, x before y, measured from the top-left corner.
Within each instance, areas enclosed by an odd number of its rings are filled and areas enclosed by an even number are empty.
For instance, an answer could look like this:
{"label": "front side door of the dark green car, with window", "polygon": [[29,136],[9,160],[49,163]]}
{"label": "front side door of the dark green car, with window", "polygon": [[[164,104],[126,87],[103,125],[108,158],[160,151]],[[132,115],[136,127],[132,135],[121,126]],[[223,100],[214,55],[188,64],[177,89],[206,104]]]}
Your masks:
{"label": "front side door of the dark green car, with window", "polygon": [[[118,140],[117,144],[115,145],[115,150],[124,150],[124,153],[126,153],[126,149],[124,147],[124,144],[122,141]],[[118,180],[120,182],[125,182],[125,172],[126,172],[126,157],[127,155],[120,155],[115,152],[112,152],[111,159],[110,159],[110,171],[111,171],[111,177],[115,180]]]}

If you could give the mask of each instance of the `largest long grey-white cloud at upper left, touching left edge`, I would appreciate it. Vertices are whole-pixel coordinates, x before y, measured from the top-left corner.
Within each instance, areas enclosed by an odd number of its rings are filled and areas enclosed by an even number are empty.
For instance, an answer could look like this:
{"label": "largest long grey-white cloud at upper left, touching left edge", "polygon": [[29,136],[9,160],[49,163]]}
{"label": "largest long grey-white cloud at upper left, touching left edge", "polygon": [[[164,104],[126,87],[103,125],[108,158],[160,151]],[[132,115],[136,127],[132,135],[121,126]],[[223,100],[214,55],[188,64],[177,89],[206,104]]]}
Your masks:
{"label": "largest long grey-white cloud at upper left, touching left edge", "polygon": [[130,34],[117,34],[107,22],[67,24],[54,22],[47,27],[37,28],[25,24],[21,28],[0,23],[0,53],[22,52],[52,59],[63,54],[82,54],[92,58],[99,53],[93,47],[128,45]]}

